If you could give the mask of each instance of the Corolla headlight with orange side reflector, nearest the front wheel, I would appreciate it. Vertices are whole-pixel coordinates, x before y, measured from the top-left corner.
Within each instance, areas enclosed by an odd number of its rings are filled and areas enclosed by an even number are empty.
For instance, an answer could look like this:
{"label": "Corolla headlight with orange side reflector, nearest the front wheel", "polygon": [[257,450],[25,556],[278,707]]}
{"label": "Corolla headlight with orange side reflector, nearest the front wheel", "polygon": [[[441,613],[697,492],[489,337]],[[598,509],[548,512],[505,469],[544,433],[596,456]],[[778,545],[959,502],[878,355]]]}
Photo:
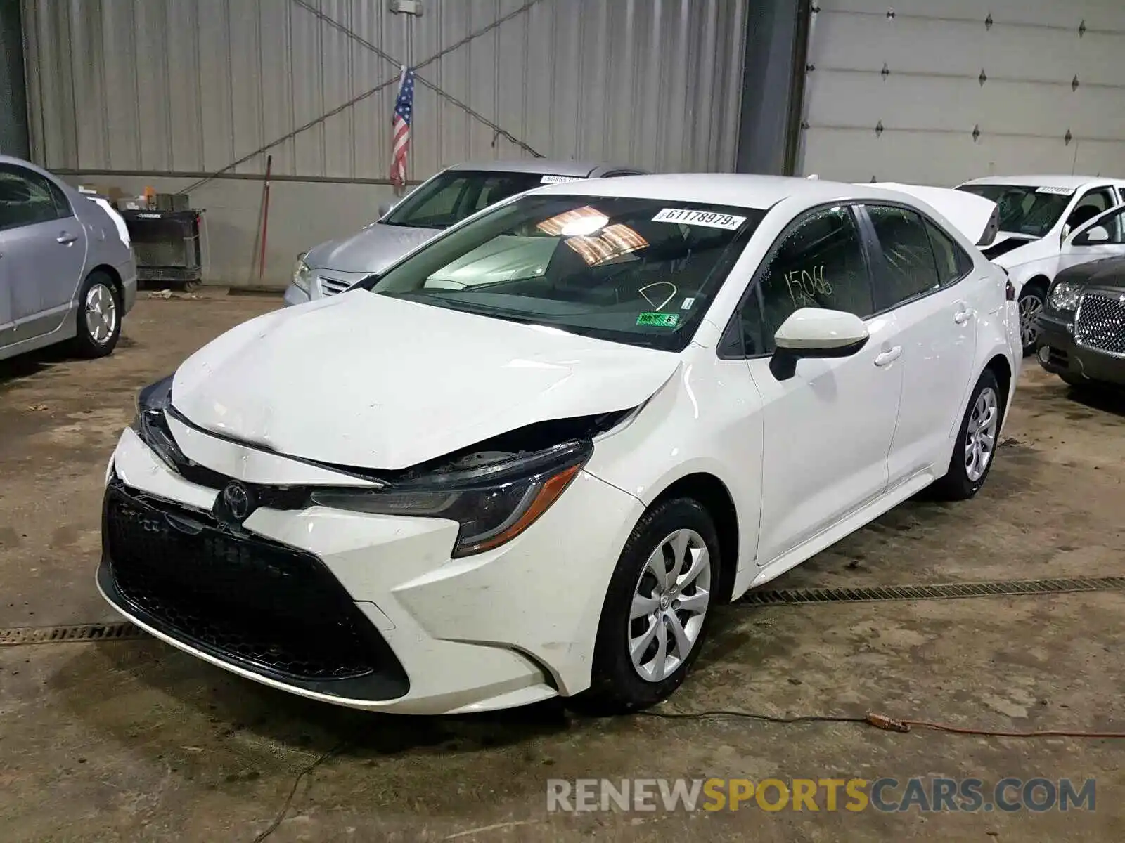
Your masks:
{"label": "Corolla headlight with orange side reflector, nearest the front wheel", "polygon": [[377,515],[447,518],[460,524],[452,555],[468,556],[512,541],[566,491],[593,452],[572,442],[484,465],[426,473],[384,489],[314,491],[312,501]]}

